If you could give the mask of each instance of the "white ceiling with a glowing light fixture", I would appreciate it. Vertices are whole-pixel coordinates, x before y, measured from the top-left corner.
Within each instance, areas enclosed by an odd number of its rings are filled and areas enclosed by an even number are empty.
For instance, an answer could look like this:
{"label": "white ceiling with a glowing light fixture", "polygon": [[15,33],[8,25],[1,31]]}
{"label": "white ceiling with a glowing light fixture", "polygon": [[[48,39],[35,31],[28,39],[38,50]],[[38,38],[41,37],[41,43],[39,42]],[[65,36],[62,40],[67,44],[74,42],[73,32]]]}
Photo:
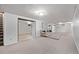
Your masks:
{"label": "white ceiling with a glowing light fixture", "polygon": [[[3,4],[0,6],[2,11],[43,20],[47,23],[72,21],[75,9],[74,4]],[[47,15],[42,17],[35,15],[33,12],[38,9],[46,10]]]}

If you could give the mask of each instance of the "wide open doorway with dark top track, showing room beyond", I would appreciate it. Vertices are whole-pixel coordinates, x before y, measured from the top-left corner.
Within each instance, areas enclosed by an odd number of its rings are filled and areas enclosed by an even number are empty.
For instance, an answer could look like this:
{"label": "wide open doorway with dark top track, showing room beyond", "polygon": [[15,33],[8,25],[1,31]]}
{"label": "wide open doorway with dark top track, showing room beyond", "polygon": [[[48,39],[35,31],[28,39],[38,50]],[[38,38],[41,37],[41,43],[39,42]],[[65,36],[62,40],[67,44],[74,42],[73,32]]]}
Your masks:
{"label": "wide open doorway with dark top track, showing room beyond", "polygon": [[36,36],[36,22],[18,18],[18,41],[32,40]]}

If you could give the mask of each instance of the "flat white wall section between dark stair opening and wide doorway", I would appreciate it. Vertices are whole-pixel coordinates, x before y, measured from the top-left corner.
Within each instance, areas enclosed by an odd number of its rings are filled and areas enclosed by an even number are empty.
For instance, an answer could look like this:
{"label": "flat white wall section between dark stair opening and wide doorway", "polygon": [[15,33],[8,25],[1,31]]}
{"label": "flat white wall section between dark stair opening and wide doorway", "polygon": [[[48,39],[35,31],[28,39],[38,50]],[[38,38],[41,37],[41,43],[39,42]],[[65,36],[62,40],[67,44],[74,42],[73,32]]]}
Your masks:
{"label": "flat white wall section between dark stair opening and wide doorway", "polygon": [[17,15],[4,13],[4,45],[17,43]]}

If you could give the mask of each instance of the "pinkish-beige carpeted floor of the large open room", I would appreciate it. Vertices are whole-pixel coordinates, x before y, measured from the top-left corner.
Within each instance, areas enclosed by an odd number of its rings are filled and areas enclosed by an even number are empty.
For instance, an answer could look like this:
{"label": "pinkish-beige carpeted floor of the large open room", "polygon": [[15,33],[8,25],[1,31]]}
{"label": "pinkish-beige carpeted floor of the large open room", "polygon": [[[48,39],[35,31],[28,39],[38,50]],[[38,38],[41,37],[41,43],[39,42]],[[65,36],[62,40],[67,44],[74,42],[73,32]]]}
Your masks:
{"label": "pinkish-beige carpeted floor of the large open room", "polygon": [[[58,36],[58,34],[56,34]],[[53,35],[52,35],[53,37]],[[1,46],[1,53],[22,54],[77,54],[77,48],[70,33],[62,33],[59,40],[40,37],[9,46]]]}

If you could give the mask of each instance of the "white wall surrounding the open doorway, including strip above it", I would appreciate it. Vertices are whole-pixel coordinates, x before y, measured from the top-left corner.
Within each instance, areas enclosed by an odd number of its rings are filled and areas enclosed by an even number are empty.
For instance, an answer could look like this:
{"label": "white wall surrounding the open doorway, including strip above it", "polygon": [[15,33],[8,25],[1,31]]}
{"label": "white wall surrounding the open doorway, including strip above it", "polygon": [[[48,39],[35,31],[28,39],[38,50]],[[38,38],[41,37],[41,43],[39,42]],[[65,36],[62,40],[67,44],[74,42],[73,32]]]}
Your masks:
{"label": "white wall surrounding the open doorway, including strip above it", "polygon": [[[23,18],[23,19],[28,19],[28,20],[34,20],[36,21],[36,36],[40,35],[40,30],[41,30],[41,21],[23,17],[23,16],[18,16],[14,15],[11,13],[4,13],[3,16],[3,22],[4,22],[4,45],[10,45],[18,42],[18,32],[17,32],[17,18]],[[34,25],[35,26],[35,25]],[[34,32],[35,33],[35,32]]]}

